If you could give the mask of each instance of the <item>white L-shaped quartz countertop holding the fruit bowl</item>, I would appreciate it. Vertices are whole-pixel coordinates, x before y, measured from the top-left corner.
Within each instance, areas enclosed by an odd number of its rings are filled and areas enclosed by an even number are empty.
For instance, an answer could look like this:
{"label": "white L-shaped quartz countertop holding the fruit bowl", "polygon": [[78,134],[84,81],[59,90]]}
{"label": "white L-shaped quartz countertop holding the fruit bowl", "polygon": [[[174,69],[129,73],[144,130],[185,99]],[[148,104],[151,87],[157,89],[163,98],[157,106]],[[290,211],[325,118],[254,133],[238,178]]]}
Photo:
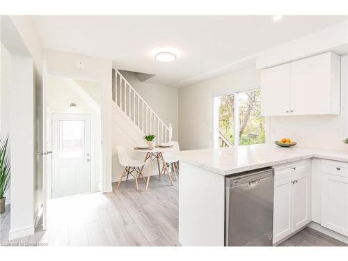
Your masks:
{"label": "white L-shaped quartz countertop holding the fruit bowl", "polygon": [[348,162],[348,152],[343,150],[301,148],[298,146],[280,148],[273,144],[241,145],[234,148],[184,150],[171,153],[171,155],[182,162],[221,175],[230,175],[300,159],[311,159],[313,157]]}

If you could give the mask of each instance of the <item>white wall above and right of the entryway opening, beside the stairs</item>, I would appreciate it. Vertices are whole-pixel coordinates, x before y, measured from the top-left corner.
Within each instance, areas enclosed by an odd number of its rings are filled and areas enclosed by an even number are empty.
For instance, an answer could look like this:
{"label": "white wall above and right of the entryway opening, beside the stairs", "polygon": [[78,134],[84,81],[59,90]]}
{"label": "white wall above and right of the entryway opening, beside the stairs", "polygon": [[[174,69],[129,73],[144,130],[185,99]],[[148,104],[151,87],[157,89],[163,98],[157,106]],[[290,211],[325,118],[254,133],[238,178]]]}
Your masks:
{"label": "white wall above and right of the entryway opening, beside the stairs", "polygon": [[[112,191],[111,187],[111,88],[112,88],[112,62],[104,58],[70,54],[52,50],[44,50],[43,56],[47,61],[49,74],[99,81],[102,86],[101,111],[102,111],[102,191]],[[86,68],[77,70],[78,61],[82,61]]]}

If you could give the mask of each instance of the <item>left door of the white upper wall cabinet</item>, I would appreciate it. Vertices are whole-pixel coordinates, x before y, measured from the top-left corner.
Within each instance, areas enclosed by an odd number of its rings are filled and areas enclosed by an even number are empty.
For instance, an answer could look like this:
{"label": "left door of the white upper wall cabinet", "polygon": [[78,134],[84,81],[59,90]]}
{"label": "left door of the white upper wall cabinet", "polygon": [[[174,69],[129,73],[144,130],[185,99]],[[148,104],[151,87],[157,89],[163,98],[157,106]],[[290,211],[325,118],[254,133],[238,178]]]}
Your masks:
{"label": "left door of the white upper wall cabinet", "polygon": [[263,116],[284,116],[290,113],[290,72],[290,63],[261,71],[261,113]]}

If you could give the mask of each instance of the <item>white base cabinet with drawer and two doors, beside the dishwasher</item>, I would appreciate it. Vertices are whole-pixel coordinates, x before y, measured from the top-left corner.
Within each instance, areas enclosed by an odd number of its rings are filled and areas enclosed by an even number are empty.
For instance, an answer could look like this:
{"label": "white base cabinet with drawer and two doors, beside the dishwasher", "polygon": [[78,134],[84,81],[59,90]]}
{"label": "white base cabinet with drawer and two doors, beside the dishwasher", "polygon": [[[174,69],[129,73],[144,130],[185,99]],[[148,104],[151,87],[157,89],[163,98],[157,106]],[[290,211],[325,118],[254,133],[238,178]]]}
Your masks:
{"label": "white base cabinet with drawer and two doors, beside the dishwasher", "polygon": [[311,221],[309,165],[299,161],[275,168],[273,244]]}

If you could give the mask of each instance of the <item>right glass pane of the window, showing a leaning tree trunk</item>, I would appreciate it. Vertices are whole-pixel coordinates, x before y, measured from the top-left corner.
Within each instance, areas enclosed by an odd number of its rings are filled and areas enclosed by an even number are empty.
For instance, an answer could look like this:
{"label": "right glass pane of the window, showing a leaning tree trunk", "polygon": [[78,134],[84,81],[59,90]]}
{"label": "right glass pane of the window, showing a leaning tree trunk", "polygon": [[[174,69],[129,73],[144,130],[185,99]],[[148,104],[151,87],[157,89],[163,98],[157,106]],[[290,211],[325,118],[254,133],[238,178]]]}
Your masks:
{"label": "right glass pane of the window, showing a leaning tree trunk", "polygon": [[264,117],[261,116],[261,91],[238,93],[239,145],[264,143]]}

